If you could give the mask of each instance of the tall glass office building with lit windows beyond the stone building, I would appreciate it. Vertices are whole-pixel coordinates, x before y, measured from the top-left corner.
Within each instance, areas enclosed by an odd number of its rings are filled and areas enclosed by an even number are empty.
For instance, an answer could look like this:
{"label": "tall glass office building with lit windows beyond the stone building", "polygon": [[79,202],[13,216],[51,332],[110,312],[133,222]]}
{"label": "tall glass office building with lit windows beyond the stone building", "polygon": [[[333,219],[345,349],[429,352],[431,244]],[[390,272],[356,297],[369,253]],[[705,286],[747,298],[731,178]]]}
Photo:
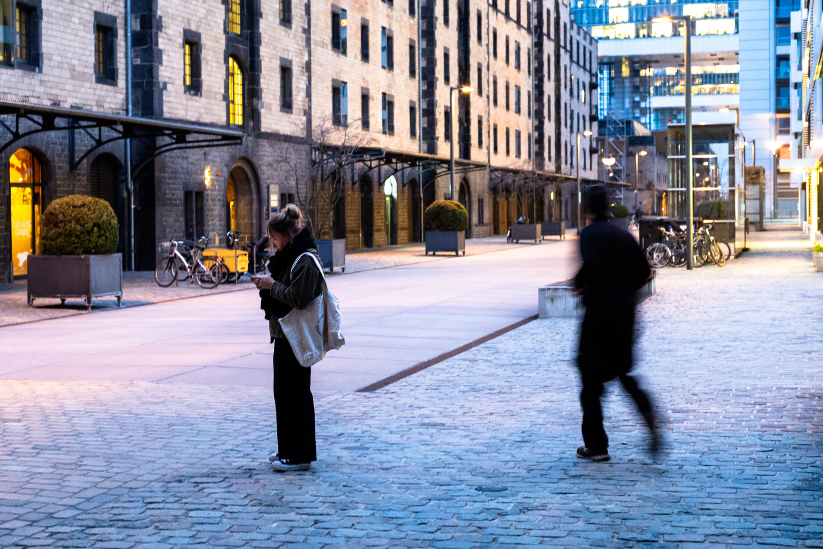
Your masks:
{"label": "tall glass office building with lit windows beyond the stone building", "polygon": [[[597,108],[651,130],[684,122],[683,23],[691,16],[695,123],[736,123],[740,104],[738,2],[579,0],[572,16],[598,40]],[[719,117],[719,118],[718,118]]]}

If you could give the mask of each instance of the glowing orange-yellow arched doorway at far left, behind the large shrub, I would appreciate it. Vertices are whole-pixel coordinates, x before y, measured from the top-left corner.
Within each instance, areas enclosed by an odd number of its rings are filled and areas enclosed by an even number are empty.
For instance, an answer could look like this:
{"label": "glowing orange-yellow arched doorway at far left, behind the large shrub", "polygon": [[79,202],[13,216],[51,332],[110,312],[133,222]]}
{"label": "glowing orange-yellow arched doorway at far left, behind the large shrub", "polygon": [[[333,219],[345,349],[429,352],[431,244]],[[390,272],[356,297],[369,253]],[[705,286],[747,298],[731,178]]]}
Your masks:
{"label": "glowing orange-yellow arched doorway at far left, behind the large shrub", "polygon": [[12,263],[15,277],[29,272],[28,257],[40,253],[43,166],[31,151],[17,149],[8,161],[12,203]]}

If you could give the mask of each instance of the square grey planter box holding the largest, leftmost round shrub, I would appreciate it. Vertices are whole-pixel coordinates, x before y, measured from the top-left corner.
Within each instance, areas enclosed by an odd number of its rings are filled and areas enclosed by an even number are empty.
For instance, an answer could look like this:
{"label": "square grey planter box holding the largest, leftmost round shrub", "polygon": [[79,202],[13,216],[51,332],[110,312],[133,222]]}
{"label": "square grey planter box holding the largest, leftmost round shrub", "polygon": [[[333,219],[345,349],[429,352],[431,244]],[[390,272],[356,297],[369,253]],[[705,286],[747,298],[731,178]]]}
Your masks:
{"label": "square grey planter box holding the largest, leftmost round shrub", "polygon": [[65,303],[70,297],[91,301],[117,295],[123,301],[123,254],[108,255],[30,255],[28,300],[33,306],[37,297],[51,297]]}

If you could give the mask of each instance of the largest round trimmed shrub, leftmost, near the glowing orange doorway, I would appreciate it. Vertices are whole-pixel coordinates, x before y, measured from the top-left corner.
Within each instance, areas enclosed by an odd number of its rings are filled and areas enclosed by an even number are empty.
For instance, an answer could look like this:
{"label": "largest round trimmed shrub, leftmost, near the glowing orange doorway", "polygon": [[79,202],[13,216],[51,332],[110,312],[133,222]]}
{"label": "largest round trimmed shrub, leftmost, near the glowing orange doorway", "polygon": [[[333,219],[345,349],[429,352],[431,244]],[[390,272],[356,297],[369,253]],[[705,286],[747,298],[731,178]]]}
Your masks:
{"label": "largest round trimmed shrub, leftmost, near the glowing orange doorway", "polygon": [[40,217],[40,249],[45,255],[114,254],[118,240],[117,216],[100,198],[58,198]]}

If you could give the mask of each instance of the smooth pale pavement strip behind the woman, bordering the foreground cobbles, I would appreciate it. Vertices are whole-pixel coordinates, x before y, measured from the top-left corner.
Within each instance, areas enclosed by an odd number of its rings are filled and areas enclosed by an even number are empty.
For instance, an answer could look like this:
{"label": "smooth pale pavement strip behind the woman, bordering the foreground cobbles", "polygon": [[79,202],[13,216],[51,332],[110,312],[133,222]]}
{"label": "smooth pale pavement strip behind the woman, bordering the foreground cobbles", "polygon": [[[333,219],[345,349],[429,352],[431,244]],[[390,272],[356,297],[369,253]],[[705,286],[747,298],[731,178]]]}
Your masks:
{"label": "smooth pale pavement strip behind the woman, bordering the foreground cobbles", "polygon": [[[312,387],[350,392],[536,314],[537,288],[570,277],[576,240],[336,275],[346,346]],[[0,379],[272,384],[257,291],[0,328]]]}

